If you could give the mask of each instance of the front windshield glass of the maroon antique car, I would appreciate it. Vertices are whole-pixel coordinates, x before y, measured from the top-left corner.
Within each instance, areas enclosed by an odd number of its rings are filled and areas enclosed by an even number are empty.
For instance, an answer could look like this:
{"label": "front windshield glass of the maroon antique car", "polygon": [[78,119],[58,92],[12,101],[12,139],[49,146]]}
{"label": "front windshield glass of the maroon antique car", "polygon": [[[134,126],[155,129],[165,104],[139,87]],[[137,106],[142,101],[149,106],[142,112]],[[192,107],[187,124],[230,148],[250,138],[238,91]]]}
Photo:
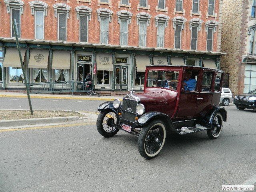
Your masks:
{"label": "front windshield glass of the maroon antique car", "polygon": [[[178,81],[179,71],[174,70],[148,70],[147,87],[166,87],[168,82]],[[169,84],[170,85],[170,84]],[[177,86],[171,85],[171,86]]]}

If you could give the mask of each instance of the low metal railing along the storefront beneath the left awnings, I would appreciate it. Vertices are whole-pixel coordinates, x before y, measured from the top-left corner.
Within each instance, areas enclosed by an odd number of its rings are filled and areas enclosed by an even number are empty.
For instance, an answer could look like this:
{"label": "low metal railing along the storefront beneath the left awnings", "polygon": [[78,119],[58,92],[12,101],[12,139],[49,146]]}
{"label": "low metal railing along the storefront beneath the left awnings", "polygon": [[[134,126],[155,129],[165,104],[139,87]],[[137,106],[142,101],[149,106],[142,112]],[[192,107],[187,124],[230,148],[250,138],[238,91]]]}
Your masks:
{"label": "low metal railing along the storefront beneath the left awnings", "polygon": [[54,93],[54,92],[88,92],[91,83],[86,82],[47,82],[47,83],[28,83],[29,93]]}

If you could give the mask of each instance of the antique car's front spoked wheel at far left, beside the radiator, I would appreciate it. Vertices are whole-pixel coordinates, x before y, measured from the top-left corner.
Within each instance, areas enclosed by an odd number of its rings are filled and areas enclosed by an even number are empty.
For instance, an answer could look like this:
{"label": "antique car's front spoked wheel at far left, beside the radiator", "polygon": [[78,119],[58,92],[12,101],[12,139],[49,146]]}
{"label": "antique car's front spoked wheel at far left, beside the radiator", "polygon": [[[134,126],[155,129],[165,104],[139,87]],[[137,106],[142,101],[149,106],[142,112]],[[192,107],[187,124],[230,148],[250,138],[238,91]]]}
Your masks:
{"label": "antique car's front spoked wheel at far left, beside the radiator", "polygon": [[118,122],[118,116],[112,110],[106,109],[100,112],[96,126],[98,132],[104,137],[112,137],[119,129],[115,128],[115,125]]}

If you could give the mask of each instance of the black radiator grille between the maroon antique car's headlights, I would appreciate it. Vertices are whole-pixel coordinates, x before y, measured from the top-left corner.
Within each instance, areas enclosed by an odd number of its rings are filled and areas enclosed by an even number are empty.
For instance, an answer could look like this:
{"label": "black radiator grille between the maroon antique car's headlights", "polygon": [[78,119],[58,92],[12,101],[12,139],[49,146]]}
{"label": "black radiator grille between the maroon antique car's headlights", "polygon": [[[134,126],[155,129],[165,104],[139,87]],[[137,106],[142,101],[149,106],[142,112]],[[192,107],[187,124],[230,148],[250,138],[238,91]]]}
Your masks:
{"label": "black radiator grille between the maroon antique car's headlights", "polygon": [[123,99],[122,105],[122,118],[121,120],[125,120],[128,122],[135,122],[136,117],[136,106],[138,102],[137,100],[132,99]]}

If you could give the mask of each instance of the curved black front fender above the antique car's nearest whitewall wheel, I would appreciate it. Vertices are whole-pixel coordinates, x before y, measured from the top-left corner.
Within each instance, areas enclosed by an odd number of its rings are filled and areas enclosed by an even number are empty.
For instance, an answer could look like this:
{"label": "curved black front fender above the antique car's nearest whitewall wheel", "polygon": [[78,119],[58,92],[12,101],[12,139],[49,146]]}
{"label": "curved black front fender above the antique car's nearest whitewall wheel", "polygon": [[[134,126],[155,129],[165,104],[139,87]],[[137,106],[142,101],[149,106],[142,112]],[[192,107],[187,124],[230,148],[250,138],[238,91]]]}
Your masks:
{"label": "curved black front fender above the antique car's nearest whitewall wheel", "polygon": [[172,124],[172,120],[170,119],[170,117],[168,115],[160,113],[160,112],[147,112],[147,113],[143,114],[138,119],[138,124],[140,126],[145,126],[153,119],[162,120],[165,123],[167,130],[176,131],[174,128],[174,125]]}

